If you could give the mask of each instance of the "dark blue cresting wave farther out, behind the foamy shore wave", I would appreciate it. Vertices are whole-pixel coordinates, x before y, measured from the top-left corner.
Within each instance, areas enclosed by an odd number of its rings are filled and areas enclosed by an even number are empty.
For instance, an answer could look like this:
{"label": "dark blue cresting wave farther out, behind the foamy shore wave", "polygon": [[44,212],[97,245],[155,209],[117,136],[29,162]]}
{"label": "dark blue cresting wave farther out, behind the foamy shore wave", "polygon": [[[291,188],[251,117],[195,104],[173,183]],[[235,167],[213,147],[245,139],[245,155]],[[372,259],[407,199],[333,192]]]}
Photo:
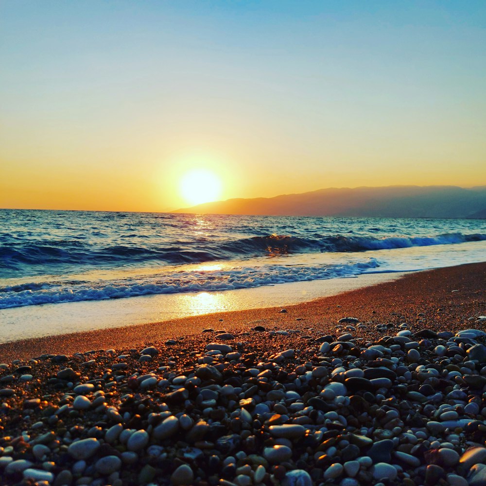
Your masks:
{"label": "dark blue cresting wave farther out, behind the foamy shore wave", "polygon": [[[312,234],[312,237],[288,235],[266,235],[227,239],[197,239],[174,242],[167,246],[144,244],[140,235],[138,244],[97,247],[89,242],[45,241],[20,244],[9,240],[0,246],[0,275],[4,277],[62,273],[69,267],[79,271],[79,265],[113,266],[157,262],[164,264],[201,263],[216,260],[234,260],[258,256],[290,255],[309,252],[363,252],[429,246],[438,244],[467,243],[486,240],[486,234],[446,233],[437,236],[405,237],[389,236],[325,236]],[[3,272],[2,272],[3,269]]]}

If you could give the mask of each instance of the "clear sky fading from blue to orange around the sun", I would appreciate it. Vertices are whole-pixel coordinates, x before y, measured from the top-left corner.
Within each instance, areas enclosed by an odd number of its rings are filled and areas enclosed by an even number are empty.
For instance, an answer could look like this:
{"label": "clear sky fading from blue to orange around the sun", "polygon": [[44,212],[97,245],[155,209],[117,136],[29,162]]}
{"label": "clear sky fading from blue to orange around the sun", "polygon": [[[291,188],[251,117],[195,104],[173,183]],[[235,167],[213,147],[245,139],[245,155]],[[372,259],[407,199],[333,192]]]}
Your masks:
{"label": "clear sky fading from blue to orange around the sun", "polygon": [[0,207],[486,184],[485,1],[0,2]]}

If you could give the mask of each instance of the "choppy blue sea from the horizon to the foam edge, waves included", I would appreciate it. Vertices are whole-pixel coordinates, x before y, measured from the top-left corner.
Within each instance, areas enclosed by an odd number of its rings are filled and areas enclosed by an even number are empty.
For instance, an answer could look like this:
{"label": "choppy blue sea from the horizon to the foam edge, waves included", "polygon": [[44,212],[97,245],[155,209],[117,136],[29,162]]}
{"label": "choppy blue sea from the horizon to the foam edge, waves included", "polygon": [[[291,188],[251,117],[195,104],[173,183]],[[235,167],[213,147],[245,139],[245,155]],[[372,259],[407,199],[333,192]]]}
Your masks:
{"label": "choppy blue sea from the horizon to the foam edge, waves included", "polygon": [[0,309],[484,261],[484,220],[0,210]]}

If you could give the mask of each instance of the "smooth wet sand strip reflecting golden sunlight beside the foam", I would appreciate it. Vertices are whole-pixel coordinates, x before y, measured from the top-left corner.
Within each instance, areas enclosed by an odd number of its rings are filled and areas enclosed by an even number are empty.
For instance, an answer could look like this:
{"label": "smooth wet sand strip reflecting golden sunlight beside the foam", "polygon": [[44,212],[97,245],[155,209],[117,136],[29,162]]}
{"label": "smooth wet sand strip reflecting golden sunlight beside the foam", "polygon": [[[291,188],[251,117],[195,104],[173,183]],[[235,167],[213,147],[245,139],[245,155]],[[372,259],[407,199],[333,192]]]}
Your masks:
{"label": "smooth wet sand strip reflecting golden sunlight beside the foam", "polygon": [[[0,345],[19,340],[162,323],[216,312],[291,306],[396,280],[408,272],[288,282],[224,292],[143,295],[0,310]],[[25,323],[31,323],[27,329]],[[48,330],[48,334],[46,333]],[[26,332],[29,332],[27,336]]]}

